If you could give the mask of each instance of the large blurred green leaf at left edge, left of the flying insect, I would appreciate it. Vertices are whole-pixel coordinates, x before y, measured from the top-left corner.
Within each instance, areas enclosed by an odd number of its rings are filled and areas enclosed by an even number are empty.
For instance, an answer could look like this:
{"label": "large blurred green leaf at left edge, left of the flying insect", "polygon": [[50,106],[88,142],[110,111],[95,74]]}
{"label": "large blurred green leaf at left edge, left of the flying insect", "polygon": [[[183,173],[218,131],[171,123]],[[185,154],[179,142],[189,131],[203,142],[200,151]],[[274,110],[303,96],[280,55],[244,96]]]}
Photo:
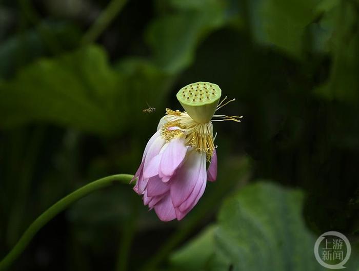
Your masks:
{"label": "large blurred green leaf at left edge, left of the flying insect", "polygon": [[37,120],[109,133],[111,96],[118,81],[98,47],[41,59],[0,84],[0,125]]}

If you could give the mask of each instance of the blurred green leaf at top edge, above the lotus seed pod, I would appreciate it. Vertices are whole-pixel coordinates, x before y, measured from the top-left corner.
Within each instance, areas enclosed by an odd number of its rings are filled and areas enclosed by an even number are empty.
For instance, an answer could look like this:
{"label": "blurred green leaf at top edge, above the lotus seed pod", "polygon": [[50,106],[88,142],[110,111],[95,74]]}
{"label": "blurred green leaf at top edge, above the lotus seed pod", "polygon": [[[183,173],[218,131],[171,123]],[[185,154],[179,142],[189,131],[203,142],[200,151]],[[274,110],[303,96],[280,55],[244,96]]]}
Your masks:
{"label": "blurred green leaf at top edge, above the lotus seed pod", "polygon": [[177,73],[192,62],[197,44],[223,26],[228,17],[225,1],[171,1],[176,14],[159,17],[147,30],[147,42],[155,62],[169,73]]}

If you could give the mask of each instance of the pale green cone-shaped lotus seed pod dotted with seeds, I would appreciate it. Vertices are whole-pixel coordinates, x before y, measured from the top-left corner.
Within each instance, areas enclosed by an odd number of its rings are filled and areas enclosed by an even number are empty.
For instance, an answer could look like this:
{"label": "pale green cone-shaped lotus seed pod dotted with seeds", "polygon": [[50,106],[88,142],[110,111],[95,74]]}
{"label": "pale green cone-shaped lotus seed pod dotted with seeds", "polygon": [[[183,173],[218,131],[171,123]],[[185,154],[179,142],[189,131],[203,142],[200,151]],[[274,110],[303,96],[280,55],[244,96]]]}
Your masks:
{"label": "pale green cone-shaped lotus seed pod dotted with seeds", "polygon": [[196,82],[180,89],[176,95],[188,115],[198,123],[211,120],[222,90],[210,82]]}

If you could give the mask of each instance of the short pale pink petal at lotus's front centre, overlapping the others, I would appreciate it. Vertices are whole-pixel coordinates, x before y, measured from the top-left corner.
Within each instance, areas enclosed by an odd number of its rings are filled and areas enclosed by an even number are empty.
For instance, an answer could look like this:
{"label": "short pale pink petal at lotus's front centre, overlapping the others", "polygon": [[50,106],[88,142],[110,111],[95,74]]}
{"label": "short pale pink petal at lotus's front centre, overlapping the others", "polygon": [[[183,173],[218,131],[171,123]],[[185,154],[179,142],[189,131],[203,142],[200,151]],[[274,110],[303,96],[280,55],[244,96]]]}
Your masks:
{"label": "short pale pink petal at lotus's front centre, overlapping the others", "polygon": [[171,177],[174,174],[185,159],[187,149],[184,137],[175,137],[169,142],[159,164],[159,169],[163,176]]}

